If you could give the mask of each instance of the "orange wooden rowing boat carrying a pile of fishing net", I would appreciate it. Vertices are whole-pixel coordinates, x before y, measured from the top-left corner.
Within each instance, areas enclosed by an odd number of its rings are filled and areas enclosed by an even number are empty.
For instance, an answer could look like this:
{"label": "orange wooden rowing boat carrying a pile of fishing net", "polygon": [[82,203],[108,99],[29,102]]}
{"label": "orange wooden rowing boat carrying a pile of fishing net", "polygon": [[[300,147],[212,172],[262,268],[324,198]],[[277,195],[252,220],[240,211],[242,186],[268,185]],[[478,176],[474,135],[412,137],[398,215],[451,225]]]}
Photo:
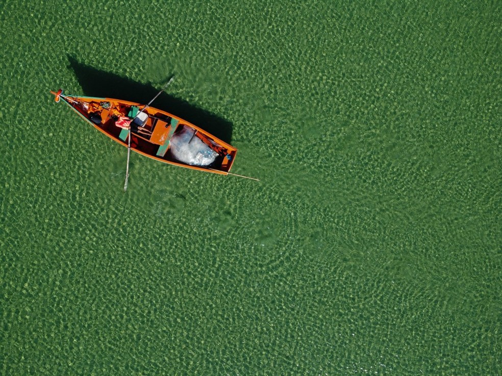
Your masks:
{"label": "orange wooden rowing boat carrying a pile of fishing net", "polygon": [[236,148],[168,112],[119,99],[51,93],[94,128],[125,147],[130,141],[132,150],[148,158],[223,175],[234,163]]}

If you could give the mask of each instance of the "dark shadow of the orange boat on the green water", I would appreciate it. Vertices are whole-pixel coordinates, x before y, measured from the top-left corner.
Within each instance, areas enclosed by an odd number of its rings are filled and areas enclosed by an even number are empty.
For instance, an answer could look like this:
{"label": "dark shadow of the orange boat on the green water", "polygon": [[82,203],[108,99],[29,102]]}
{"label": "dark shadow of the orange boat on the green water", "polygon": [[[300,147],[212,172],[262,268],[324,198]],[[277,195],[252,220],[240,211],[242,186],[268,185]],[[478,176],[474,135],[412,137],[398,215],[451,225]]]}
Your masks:
{"label": "dark shadow of the orange boat on the green water", "polygon": [[[70,62],[69,68],[75,72],[86,96],[148,103],[159,92],[160,88],[154,88],[151,85],[141,84],[132,79],[90,67],[79,63],[71,56],[68,56],[68,60]],[[170,72],[166,72],[166,80],[169,78],[169,74]],[[78,93],[71,94],[77,95]],[[186,100],[162,93],[152,105],[195,124],[224,142],[229,144],[232,142],[231,122],[200,109]]]}

